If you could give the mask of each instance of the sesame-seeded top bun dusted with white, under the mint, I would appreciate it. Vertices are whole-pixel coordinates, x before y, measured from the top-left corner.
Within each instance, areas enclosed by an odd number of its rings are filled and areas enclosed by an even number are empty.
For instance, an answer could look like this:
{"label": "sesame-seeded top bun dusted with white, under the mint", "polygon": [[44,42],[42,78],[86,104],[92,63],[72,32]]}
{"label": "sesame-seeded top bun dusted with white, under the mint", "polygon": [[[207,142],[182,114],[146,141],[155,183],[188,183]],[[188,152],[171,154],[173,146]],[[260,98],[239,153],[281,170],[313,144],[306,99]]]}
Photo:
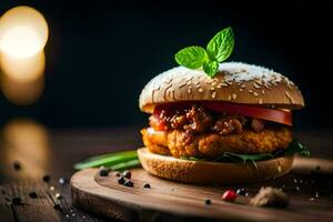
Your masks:
{"label": "sesame-seeded top bun dusted with white, under the mint", "polygon": [[206,75],[203,70],[184,67],[168,70],[143,88],[139,107],[152,113],[157,104],[202,100],[289,110],[304,107],[301,91],[286,77],[241,62],[221,63],[214,78]]}

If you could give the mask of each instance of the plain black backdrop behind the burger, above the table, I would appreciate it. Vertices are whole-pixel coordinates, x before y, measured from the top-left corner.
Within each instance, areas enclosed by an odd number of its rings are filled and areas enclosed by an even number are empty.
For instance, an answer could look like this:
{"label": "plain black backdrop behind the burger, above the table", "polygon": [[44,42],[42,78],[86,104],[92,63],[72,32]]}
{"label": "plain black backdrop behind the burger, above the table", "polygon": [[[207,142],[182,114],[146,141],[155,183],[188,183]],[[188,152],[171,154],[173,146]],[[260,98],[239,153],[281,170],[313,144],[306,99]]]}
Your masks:
{"label": "plain black backdrop behind the burger, above the table", "polygon": [[143,125],[143,85],[175,64],[174,53],[231,26],[229,61],[272,68],[292,79],[306,108],[297,127],[332,127],[332,4],[321,1],[1,0],[1,14],[26,4],[49,23],[46,90],[29,107],[0,95],[0,124],[30,117],[51,128]]}

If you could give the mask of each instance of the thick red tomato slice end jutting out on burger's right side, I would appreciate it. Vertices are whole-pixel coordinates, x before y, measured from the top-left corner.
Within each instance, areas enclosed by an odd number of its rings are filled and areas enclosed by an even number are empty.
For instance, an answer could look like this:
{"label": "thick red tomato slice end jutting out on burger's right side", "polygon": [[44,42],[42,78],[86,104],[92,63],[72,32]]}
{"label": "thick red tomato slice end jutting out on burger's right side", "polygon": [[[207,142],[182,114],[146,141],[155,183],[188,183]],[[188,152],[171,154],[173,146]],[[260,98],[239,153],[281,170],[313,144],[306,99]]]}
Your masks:
{"label": "thick red tomato slice end jutting out on burger's right side", "polygon": [[241,114],[244,117],[263,119],[286,125],[292,124],[292,112],[290,110],[276,110],[270,108],[252,107],[246,104],[236,104],[231,102],[200,102],[203,107],[218,112]]}

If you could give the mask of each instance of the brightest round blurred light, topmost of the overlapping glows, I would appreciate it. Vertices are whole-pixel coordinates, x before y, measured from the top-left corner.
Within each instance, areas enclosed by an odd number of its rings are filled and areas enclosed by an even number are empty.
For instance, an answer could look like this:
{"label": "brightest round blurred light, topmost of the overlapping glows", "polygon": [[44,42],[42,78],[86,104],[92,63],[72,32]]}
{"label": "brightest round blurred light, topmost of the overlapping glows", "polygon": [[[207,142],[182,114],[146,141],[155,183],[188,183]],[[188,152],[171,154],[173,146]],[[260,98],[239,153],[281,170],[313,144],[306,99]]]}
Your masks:
{"label": "brightest round blurred light, topmost of the overlapping glows", "polygon": [[43,50],[48,23],[30,7],[16,7],[0,19],[0,50],[13,58],[28,58]]}

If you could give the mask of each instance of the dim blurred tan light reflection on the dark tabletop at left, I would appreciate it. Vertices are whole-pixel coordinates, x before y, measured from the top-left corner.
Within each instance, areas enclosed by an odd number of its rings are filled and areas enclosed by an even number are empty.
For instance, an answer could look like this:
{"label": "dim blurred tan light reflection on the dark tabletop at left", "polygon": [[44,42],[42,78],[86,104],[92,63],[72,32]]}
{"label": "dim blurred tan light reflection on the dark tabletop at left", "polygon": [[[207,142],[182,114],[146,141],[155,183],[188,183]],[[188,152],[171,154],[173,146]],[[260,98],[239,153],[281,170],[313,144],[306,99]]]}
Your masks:
{"label": "dim blurred tan light reflection on the dark tabletop at left", "polygon": [[47,129],[31,119],[10,120],[2,129],[3,161],[7,165],[20,161],[24,169],[29,169],[24,170],[27,178],[40,179],[48,172],[51,160],[49,148]]}

